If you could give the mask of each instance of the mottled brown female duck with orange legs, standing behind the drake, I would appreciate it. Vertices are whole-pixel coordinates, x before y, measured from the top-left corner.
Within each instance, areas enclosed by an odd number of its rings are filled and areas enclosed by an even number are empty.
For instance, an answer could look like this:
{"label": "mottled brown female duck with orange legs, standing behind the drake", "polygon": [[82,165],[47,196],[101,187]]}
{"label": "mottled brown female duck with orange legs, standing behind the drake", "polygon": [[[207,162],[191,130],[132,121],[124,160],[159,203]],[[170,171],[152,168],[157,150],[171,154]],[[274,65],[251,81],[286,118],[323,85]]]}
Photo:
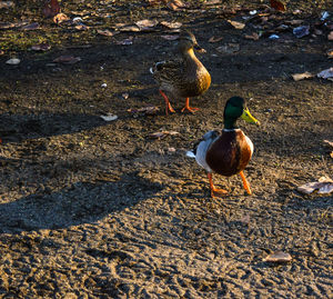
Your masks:
{"label": "mottled brown female duck with orange legs, standing behind the drake", "polygon": [[160,93],[165,100],[165,111],[174,112],[169,98],[164,92],[174,98],[185,98],[185,107],[182,109],[194,112],[199,108],[190,107],[190,97],[196,97],[206,91],[211,84],[211,76],[205,67],[195,57],[194,50],[205,52],[190,31],[180,34],[179,51],[181,60],[158,62],[150,69],[154,79],[160,84]]}

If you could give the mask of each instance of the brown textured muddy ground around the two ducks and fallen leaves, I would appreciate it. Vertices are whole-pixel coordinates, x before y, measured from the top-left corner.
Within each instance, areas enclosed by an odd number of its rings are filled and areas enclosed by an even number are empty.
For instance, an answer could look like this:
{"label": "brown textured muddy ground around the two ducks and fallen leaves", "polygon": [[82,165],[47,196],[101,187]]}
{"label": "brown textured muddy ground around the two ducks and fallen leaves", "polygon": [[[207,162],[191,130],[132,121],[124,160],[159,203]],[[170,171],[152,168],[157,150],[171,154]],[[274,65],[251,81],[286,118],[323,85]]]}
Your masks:
{"label": "brown textured muddy ground around the two ducks and fallen leaves", "polygon": [[[332,298],[332,197],[296,191],[332,177],[323,143],[333,139],[332,82],[291,79],[332,67],[326,31],[253,41],[244,39],[251,23],[236,30],[226,22],[249,12],[228,14],[221,6],[172,11],[143,1],[65,1],[64,13],[88,11],[92,19],[92,28],[75,31],[43,20],[39,2],[27,2],[3,21],[23,16],[42,28],[0,32],[1,298]],[[317,11],[297,2],[303,12],[283,18],[315,23]],[[89,14],[95,11],[113,17]],[[181,113],[183,100],[173,100],[176,113],[167,117],[149,73],[153,61],[173,56],[175,41],[161,38],[170,30],[102,37],[93,29],[145,18],[183,22],[206,49],[200,59],[212,86],[192,100],[195,114]],[[211,43],[213,36],[223,39]],[[117,44],[129,37],[132,44]],[[29,51],[38,40],[52,49]],[[240,50],[216,50],[229,43]],[[52,63],[61,54],[82,60]],[[6,64],[11,57],[21,63]],[[253,195],[239,176],[215,176],[230,195],[212,199],[204,170],[184,153],[222,128],[225,101],[235,94],[252,98],[261,121],[239,121],[255,147],[244,171]],[[128,111],[148,104],[160,110]],[[100,118],[108,112],[119,118]],[[149,138],[160,130],[179,134]],[[263,261],[278,250],[293,260]]]}

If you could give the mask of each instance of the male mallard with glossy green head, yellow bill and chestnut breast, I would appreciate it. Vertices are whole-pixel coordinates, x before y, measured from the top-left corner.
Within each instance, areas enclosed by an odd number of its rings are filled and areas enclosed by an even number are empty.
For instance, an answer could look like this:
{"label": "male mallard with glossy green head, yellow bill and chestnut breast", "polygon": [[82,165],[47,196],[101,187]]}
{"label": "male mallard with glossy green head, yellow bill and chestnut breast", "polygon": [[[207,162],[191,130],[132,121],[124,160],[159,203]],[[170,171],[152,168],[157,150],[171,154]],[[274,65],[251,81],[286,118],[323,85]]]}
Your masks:
{"label": "male mallard with glossy green head, yellow bill and chestnut breast", "polygon": [[230,98],[224,108],[224,129],[222,130],[222,134],[218,131],[206,132],[203,139],[198,142],[196,149],[193,152],[188,152],[189,157],[195,158],[196,162],[208,171],[212,197],[215,193],[228,193],[225,190],[214,187],[212,172],[225,177],[240,173],[244,189],[249,195],[252,193],[243,170],[252,157],[253,143],[235,126],[235,122],[238,118],[242,118],[250,123],[259,124],[260,122],[251,116],[244,104],[243,98]]}

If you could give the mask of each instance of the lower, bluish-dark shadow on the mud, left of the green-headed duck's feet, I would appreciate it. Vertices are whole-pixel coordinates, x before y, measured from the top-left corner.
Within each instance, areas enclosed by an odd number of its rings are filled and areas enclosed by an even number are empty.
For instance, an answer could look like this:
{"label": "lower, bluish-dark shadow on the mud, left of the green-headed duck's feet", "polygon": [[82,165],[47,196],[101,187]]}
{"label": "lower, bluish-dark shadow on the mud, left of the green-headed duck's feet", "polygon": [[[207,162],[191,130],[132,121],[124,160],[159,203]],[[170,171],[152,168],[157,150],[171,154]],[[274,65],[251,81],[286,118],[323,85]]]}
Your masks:
{"label": "lower, bluish-dark shadow on the mud, left of the green-headed duck's feet", "polygon": [[135,206],[162,190],[137,173],[119,180],[77,182],[57,192],[42,192],[0,205],[0,232],[19,233],[95,222],[111,212]]}

